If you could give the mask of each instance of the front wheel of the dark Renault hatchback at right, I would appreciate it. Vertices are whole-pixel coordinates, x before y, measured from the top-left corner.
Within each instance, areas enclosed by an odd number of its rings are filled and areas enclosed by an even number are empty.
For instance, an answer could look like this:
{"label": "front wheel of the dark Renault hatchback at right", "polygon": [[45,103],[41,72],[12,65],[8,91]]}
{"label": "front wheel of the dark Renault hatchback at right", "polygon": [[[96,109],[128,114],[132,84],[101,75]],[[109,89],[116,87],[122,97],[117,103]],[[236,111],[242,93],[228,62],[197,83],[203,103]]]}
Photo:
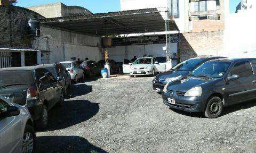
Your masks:
{"label": "front wheel of the dark Renault hatchback at right", "polygon": [[211,97],[207,101],[205,108],[205,117],[207,118],[217,118],[220,116],[223,110],[223,103],[219,97]]}

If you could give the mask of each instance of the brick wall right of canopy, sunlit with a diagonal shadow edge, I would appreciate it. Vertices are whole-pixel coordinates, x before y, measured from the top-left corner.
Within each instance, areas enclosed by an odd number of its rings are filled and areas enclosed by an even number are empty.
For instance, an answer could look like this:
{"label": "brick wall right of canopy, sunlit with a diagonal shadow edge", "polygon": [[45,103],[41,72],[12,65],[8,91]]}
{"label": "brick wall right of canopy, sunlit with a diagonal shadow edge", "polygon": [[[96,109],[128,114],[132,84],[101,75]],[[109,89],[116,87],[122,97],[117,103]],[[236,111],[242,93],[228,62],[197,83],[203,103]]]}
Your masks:
{"label": "brick wall right of canopy, sunlit with a diagonal shadow edge", "polygon": [[189,32],[180,34],[178,56],[180,61],[201,55],[221,55],[223,31]]}

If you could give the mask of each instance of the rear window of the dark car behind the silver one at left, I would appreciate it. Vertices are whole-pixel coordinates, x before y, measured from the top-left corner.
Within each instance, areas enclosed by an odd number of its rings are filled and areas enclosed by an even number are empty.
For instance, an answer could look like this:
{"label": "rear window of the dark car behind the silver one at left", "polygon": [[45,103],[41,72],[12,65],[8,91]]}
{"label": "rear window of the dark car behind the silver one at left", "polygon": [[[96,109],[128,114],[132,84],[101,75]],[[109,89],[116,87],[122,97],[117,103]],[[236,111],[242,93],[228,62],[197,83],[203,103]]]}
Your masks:
{"label": "rear window of the dark car behind the silver one at left", "polygon": [[32,84],[32,72],[29,70],[0,71],[0,87],[8,84]]}

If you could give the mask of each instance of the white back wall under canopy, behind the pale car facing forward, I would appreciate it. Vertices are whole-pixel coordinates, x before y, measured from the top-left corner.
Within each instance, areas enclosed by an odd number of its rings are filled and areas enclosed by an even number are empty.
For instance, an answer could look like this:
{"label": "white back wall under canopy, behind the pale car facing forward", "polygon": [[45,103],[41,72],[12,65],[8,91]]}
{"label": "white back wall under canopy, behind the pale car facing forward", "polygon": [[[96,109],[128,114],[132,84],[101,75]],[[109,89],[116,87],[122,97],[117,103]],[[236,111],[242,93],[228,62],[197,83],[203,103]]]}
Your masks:
{"label": "white back wall under canopy, behind the pale car facing forward", "polygon": [[[165,44],[150,44],[150,45],[131,45],[131,46],[117,46],[107,48],[109,57],[116,62],[124,62],[125,50],[127,50],[128,60],[131,60],[133,56],[143,57],[143,55],[155,57],[165,57],[166,53],[163,50]],[[172,53],[177,53],[177,43],[170,43]]]}

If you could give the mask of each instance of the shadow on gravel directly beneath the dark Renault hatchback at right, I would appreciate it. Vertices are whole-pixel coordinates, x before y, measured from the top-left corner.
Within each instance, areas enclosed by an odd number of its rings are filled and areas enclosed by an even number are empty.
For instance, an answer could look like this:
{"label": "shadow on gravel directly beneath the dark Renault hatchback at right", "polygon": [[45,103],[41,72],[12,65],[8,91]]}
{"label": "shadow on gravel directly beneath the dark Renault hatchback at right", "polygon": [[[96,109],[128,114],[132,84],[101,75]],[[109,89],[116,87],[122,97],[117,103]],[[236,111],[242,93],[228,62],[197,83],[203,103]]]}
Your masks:
{"label": "shadow on gravel directly beneath the dark Renault hatchback at right", "polygon": [[[242,109],[249,109],[249,108],[254,107],[254,106],[256,106],[256,101],[255,100],[247,101],[245,103],[236,104],[236,105],[233,105],[233,106],[229,106],[229,107],[224,108],[221,116],[227,115],[229,113],[234,113],[234,112],[242,110]],[[173,109],[173,108],[170,108],[170,109],[171,109],[171,111],[173,111],[175,113],[182,114],[182,115],[187,115],[187,116],[190,116],[190,117],[205,118],[203,112],[202,113],[193,113],[193,112],[184,112],[184,111],[181,111],[179,109]]]}

